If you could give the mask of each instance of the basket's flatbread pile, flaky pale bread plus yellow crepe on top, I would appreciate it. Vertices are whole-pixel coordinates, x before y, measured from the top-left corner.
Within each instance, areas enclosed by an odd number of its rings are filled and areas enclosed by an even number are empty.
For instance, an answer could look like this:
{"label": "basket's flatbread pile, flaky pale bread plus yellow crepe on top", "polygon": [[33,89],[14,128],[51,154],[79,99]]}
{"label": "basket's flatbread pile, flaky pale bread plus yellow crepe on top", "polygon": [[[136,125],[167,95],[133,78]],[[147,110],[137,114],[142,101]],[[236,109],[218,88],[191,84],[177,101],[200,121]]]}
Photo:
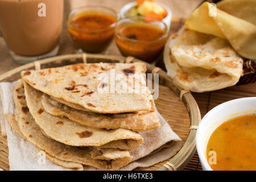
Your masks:
{"label": "basket's flatbread pile, flaky pale bread plus yellow crepe on top", "polygon": [[255,59],[255,7],[254,0],[224,0],[193,11],[164,57],[175,84],[192,92],[235,85],[243,75],[242,57]]}

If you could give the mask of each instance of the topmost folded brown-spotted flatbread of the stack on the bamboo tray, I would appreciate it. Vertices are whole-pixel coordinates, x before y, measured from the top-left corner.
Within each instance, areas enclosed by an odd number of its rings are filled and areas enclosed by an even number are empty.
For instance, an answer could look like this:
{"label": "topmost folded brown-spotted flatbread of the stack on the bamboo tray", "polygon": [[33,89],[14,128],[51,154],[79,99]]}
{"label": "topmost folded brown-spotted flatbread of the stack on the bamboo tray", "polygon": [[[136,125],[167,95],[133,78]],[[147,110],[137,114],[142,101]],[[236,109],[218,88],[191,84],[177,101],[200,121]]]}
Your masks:
{"label": "topmost folded brown-spotted flatbread of the stack on the bamboo tray", "polygon": [[[115,75],[110,76],[113,71]],[[22,77],[35,89],[85,109],[126,113],[151,109],[152,95],[146,86],[145,72],[144,63],[98,63],[23,71]],[[131,84],[132,80],[142,89]]]}

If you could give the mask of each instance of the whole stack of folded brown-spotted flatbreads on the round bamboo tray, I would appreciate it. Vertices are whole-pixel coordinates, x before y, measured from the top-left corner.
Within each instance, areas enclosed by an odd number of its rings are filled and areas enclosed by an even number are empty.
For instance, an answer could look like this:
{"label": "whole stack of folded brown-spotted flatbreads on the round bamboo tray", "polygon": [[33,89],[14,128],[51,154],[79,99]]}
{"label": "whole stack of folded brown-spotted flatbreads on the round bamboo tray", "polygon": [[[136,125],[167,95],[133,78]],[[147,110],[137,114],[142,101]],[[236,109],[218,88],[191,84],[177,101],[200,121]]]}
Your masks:
{"label": "whole stack of folded brown-spotted flatbreads on the round bamboo tray", "polygon": [[145,72],[143,63],[23,71],[14,89],[15,121],[7,119],[53,163],[119,169],[143,142],[138,132],[160,127]]}

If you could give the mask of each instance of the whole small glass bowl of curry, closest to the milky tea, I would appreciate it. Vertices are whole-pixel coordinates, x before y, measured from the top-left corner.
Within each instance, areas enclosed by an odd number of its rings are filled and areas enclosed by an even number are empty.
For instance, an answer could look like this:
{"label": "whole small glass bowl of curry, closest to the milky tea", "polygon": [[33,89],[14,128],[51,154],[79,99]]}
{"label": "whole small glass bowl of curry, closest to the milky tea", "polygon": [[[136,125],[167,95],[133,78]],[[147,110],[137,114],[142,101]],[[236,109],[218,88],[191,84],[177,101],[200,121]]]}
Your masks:
{"label": "whole small glass bowl of curry, closest to the milky tea", "polygon": [[106,6],[84,6],[68,14],[67,27],[80,51],[104,52],[114,37],[117,12]]}

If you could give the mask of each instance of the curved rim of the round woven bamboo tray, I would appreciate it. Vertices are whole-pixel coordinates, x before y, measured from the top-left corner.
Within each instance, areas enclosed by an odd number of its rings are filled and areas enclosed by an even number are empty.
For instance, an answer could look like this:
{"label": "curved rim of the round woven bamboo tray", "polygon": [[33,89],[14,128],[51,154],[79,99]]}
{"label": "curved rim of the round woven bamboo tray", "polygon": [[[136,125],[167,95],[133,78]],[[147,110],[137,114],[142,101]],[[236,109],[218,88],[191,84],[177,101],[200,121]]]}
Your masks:
{"label": "curved rim of the round woven bamboo tray", "polygon": [[[12,69],[9,72],[3,73],[3,75],[0,76],[0,82],[5,81],[7,79],[11,80],[11,76],[13,76],[15,73],[19,73],[21,71],[27,70],[27,69],[35,69],[36,64],[39,65],[47,65],[48,63],[55,63],[55,64],[61,64],[63,60],[69,60],[70,63],[74,64],[78,60],[88,60],[88,59],[102,59],[106,60],[104,62],[108,63],[110,60],[117,61],[116,63],[134,63],[141,60],[131,58],[130,60],[127,59],[129,57],[123,57],[123,56],[115,56],[115,55],[96,55],[96,54],[89,54],[89,53],[78,53],[78,54],[70,54],[70,55],[62,55],[62,56],[55,56],[50,57],[43,60],[34,61],[32,63],[28,63],[25,65],[22,65],[18,68]],[[107,61],[109,60],[109,61]],[[127,61],[129,60],[129,61]],[[84,61],[85,62],[85,61]],[[141,61],[143,63],[146,63],[144,61]],[[66,64],[68,65],[68,64]],[[197,126],[199,125],[201,121],[201,114],[199,110],[199,106],[196,103],[195,98],[192,96],[191,92],[185,91],[180,89],[178,86],[174,85],[172,82],[172,79],[167,75],[166,72],[164,72],[162,69],[158,67],[154,67],[154,65],[148,64],[147,70],[154,73],[159,73],[159,78],[163,77],[163,84],[170,88],[177,97],[180,97],[180,100],[183,102],[184,106],[186,107],[190,119],[190,129],[189,134],[186,142],[184,143],[183,147],[180,149],[179,152],[177,152],[176,155],[174,155],[171,160],[169,160],[166,164],[164,164],[162,167],[160,167],[158,170],[181,170],[183,169],[188,162],[191,160],[193,154],[196,151],[196,130]],[[63,65],[60,65],[63,66]],[[50,68],[47,67],[46,68]],[[153,76],[154,77],[154,76]],[[13,80],[14,81],[14,80]],[[159,83],[160,84],[160,83]]]}

